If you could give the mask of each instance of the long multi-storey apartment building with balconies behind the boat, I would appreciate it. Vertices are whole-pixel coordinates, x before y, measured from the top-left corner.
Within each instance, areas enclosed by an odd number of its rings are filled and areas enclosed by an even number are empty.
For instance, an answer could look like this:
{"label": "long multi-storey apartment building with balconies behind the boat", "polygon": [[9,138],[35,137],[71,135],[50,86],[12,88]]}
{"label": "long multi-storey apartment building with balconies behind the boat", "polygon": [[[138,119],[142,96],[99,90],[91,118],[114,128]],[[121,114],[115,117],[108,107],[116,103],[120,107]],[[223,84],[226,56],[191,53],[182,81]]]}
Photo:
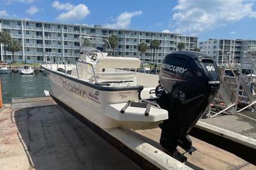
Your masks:
{"label": "long multi-storey apartment building with balconies behind the boat", "polygon": [[[22,44],[23,50],[15,52],[15,61],[28,63],[42,63],[44,52],[56,52],[59,56],[68,58],[79,57],[79,36],[94,36],[108,38],[109,35],[118,37],[118,46],[115,56],[140,57],[137,45],[145,42],[147,51],[142,60],[152,60],[152,50],[149,48],[152,39],[158,39],[160,47],[155,51],[155,59],[161,62],[165,55],[177,50],[179,42],[185,43],[185,50],[192,50],[198,46],[198,38],[176,33],[148,32],[127,29],[107,29],[100,25],[94,27],[79,24],[49,23],[44,21],[16,20],[0,18],[1,31],[7,31],[12,38]],[[99,50],[106,51],[103,43],[96,42]],[[1,45],[1,60],[4,58],[3,45]],[[7,62],[11,62],[11,52],[7,51]]]}

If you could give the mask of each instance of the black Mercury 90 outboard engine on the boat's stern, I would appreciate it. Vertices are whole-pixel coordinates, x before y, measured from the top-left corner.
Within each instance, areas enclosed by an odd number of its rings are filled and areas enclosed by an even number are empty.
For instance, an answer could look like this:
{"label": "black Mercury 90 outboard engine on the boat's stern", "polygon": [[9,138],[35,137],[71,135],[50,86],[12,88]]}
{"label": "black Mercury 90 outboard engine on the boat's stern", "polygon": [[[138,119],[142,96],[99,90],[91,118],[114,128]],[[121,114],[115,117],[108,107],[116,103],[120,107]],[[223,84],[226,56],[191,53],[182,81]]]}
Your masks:
{"label": "black Mercury 90 outboard engine on the boat's stern", "polygon": [[[180,51],[168,54],[156,86],[157,103],[168,110],[168,119],[159,125],[160,144],[164,151],[180,162],[185,153],[194,152],[188,132],[211,103],[219,89],[215,60],[201,52]],[[180,146],[185,153],[180,153]]]}

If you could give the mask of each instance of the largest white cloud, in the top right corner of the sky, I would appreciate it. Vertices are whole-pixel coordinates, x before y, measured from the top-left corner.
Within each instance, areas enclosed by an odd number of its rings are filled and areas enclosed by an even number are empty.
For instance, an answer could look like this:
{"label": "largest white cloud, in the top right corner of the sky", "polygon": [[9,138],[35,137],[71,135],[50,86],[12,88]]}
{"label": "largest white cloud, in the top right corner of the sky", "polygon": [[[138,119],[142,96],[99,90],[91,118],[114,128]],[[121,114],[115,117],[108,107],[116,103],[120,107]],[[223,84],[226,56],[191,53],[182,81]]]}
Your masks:
{"label": "largest white cloud, in the top right corner of the sky", "polygon": [[[179,0],[173,8],[173,29],[177,33],[197,34],[234,23],[245,17],[256,18],[251,0]],[[170,25],[171,27],[171,25]]]}

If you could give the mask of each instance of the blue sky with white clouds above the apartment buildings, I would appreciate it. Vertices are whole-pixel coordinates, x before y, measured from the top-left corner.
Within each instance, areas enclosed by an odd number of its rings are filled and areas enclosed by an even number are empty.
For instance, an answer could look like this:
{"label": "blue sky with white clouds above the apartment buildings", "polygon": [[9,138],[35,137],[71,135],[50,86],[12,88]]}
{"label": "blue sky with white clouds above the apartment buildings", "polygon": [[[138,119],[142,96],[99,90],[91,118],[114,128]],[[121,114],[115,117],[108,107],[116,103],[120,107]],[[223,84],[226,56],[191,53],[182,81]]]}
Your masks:
{"label": "blue sky with white clouds above the apartment buildings", "polygon": [[0,18],[256,39],[256,0],[0,0]]}

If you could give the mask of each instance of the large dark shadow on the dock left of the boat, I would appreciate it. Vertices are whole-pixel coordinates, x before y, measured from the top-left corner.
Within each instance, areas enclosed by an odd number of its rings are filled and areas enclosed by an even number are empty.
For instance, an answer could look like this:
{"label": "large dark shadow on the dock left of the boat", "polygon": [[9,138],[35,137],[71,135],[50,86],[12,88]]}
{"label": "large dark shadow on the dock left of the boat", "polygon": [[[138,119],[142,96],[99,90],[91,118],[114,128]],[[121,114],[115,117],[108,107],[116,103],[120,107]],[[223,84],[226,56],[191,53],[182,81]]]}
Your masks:
{"label": "large dark shadow on the dock left of the boat", "polygon": [[141,169],[59,106],[13,115],[35,169]]}

